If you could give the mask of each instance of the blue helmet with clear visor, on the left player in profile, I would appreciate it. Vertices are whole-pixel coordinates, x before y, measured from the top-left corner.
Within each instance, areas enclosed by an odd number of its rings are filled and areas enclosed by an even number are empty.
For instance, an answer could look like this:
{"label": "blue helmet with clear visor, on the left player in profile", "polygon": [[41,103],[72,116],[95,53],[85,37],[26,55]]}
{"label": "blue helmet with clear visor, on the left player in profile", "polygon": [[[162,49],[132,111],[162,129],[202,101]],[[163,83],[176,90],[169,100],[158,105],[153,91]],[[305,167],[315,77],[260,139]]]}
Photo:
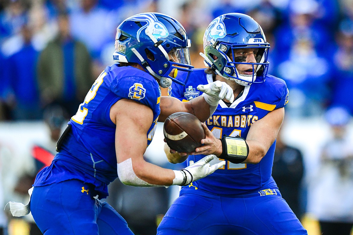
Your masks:
{"label": "blue helmet with clear visor, on the left player in profile", "polygon": [[[191,41],[177,20],[161,13],[141,13],[127,18],[116,29],[113,59],[117,63],[140,64],[160,80],[163,88],[172,81],[185,85],[193,68],[190,46]],[[184,83],[169,76],[173,68],[189,72]]]}

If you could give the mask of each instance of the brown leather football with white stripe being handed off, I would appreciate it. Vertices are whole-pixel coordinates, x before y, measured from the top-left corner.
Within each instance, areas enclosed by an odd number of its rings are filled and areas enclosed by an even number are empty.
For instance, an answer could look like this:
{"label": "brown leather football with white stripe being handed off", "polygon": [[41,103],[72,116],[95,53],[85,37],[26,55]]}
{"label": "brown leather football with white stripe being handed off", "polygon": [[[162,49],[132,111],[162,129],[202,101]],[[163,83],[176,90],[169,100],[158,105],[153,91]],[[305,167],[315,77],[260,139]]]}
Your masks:
{"label": "brown leather football with white stripe being handed off", "polygon": [[169,115],[164,121],[163,133],[170,149],[177,152],[193,152],[205,138],[201,121],[185,112]]}

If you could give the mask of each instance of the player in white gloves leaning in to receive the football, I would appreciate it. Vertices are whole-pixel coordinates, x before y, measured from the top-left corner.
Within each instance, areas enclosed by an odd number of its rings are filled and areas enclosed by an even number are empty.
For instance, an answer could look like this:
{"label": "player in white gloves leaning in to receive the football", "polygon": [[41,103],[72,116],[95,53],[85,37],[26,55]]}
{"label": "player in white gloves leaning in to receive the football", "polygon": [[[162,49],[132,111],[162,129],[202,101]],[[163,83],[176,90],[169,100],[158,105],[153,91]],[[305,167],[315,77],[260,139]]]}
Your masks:
{"label": "player in white gloves leaning in to receive the football", "polygon": [[128,235],[126,221],[100,200],[116,177],[140,187],[189,185],[223,167],[225,161],[209,164],[214,155],[174,171],[143,158],[157,121],[175,112],[206,121],[221,99],[234,99],[220,82],[202,85],[208,95],[192,102],[161,96],[160,86],[170,86],[177,69],[191,71],[189,47],[185,29],[169,16],[142,13],[124,20],[115,38],[117,64],[100,74],[68,122],[52,164],[36,176],[30,204],[11,202],[12,214],[30,210],[44,235]]}

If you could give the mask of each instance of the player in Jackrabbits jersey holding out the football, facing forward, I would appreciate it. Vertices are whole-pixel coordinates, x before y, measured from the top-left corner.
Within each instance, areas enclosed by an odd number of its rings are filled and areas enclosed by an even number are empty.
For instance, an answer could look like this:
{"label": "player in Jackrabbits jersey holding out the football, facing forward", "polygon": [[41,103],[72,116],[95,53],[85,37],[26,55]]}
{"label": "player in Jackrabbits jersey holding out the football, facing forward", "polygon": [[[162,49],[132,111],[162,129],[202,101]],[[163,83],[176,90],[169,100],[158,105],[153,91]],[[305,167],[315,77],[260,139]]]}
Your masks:
{"label": "player in Jackrabbits jersey holding out the football, facing forward", "polygon": [[267,74],[267,43],[261,26],[250,16],[223,14],[205,31],[207,69],[193,69],[185,86],[173,83],[169,95],[192,102],[206,96],[198,84],[226,82],[235,101],[219,102],[203,123],[206,138],[195,152],[176,153],[165,145],[170,162],[197,162],[205,155],[226,160],[212,175],[183,186],[160,223],[158,235],[303,235],[271,177],[276,136],[288,102],[282,79]]}

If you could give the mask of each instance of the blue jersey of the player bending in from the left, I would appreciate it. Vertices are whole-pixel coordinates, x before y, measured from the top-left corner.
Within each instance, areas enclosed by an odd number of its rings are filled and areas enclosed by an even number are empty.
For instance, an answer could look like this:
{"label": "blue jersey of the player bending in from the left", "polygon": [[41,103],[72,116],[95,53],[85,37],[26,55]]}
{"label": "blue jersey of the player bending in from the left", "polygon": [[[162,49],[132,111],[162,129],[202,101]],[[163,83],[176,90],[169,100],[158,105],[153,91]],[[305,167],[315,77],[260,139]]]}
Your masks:
{"label": "blue jersey of the player bending in from the left", "polygon": [[149,145],[160,114],[158,82],[150,74],[131,66],[108,66],[68,122],[72,131],[63,141],[52,164],[37,175],[34,186],[78,179],[93,184],[100,198],[106,197],[108,184],[118,177],[116,125],[110,120],[109,112],[112,105],[121,99],[133,100],[152,109],[154,122],[146,135]]}

